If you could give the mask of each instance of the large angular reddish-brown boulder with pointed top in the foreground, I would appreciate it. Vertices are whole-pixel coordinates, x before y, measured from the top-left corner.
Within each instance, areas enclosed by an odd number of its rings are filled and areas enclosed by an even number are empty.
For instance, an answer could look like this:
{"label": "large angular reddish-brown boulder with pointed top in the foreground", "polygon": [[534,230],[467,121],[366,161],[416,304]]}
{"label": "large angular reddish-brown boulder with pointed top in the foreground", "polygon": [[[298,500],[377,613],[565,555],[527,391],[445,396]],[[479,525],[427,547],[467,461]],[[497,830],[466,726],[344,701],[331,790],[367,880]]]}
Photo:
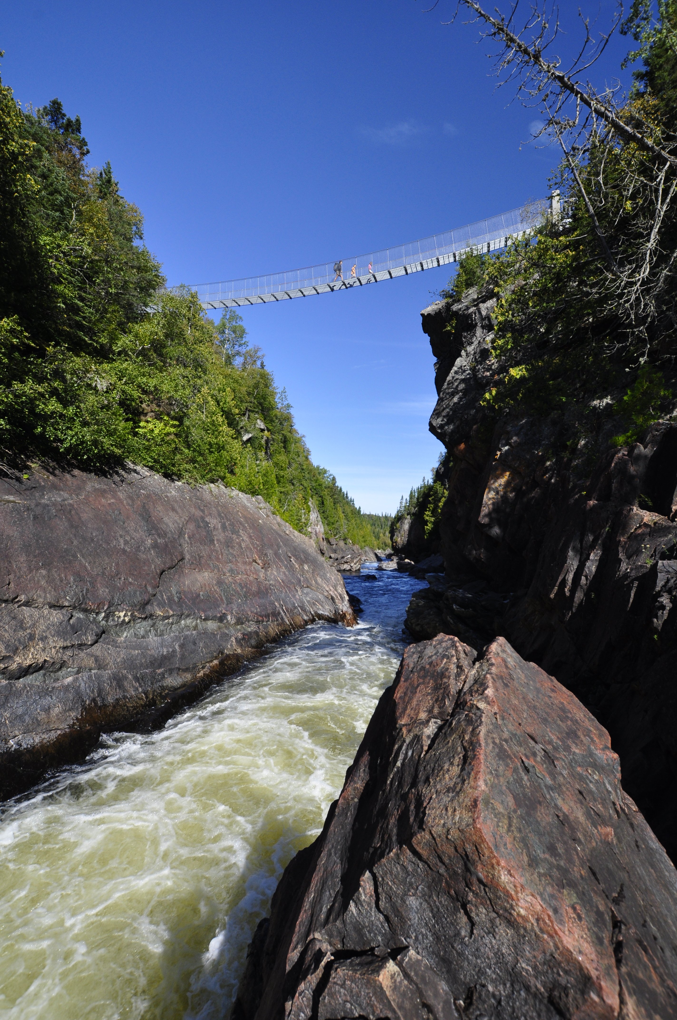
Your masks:
{"label": "large angular reddish-brown boulder with pointed top in the foreground", "polygon": [[677,1016],[677,872],[607,732],[503,639],[411,647],[233,1015]]}

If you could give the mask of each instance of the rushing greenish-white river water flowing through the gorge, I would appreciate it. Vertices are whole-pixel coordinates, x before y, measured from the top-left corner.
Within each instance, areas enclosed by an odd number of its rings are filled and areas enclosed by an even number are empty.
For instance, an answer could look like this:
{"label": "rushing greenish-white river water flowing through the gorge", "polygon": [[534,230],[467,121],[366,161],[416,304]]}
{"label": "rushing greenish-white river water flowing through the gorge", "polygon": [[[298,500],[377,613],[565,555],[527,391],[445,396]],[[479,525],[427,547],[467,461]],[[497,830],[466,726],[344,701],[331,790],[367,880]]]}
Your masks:
{"label": "rushing greenish-white river water flowing through the gorge", "polygon": [[308,627],[162,730],[109,735],[7,806],[2,1020],[227,1017],[252,931],[395,675],[421,582],[379,571],[347,586],[357,627]]}

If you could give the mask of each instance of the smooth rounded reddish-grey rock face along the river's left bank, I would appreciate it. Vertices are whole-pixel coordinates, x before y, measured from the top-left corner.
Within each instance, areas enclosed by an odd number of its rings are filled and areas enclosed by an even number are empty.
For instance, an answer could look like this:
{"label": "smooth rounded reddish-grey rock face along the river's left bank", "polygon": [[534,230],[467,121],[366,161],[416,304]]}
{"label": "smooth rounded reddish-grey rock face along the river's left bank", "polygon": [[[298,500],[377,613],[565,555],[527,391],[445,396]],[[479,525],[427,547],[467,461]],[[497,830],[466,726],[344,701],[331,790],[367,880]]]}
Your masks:
{"label": "smooth rounded reddish-grey rock face along the river's left bank", "polygon": [[0,478],[3,796],[162,718],[312,620],[352,622],[310,539],[260,498],[145,469]]}

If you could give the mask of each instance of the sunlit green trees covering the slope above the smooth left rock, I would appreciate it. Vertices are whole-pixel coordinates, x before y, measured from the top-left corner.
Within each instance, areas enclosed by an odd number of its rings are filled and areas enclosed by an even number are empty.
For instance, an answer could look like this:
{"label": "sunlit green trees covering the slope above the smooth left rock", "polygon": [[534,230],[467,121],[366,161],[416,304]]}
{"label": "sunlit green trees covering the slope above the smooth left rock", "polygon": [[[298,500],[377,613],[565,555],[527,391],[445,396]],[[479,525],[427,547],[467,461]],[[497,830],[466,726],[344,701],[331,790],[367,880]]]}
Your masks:
{"label": "sunlit green trees covering the slope above the smooth left rock", "polygon": [[90,168],[80,118],[22,110],[0,85],[0,449],[106,470],[133,461],[260,495],[305,530],[382,543],[315,466],[242,319],[169,294],[110,163]]}

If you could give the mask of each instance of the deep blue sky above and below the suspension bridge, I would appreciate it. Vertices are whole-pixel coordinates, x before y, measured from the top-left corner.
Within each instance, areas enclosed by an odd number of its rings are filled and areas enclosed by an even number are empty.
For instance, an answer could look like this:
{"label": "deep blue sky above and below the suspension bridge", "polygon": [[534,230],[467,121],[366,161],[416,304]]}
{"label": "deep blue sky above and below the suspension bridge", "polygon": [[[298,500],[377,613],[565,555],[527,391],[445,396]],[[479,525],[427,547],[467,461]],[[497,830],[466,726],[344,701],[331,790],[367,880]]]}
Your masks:
{"label": "deep blue sky above and below the suspension bridge", "polygon": [[[291,269],[548,194],[556,154],[525,144],[536,113],[497,91],[477,27],[430,6],[2,0],[2,76],[21,103],[58,96],[82,117],[169,284]],[[562,6],[567,48],[577,5]],[[588,6],[603,26],[615,5]],[[313,460],[364,510],[393,512],[441,450],[419,312],[448,277],[243,309]]]}

